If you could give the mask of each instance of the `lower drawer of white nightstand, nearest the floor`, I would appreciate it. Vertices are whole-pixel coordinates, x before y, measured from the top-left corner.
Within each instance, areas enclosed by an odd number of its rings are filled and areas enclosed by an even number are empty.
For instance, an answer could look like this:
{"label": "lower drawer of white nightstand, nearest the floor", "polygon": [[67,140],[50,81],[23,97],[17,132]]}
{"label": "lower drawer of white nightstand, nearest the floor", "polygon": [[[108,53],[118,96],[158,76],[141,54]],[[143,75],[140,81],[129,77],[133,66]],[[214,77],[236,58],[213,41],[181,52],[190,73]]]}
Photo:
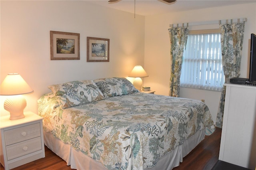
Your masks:
{"label": "lower drawer of white nightstand, nearest the floor", "polygon": [[7,160],[12,160],[41,149],[42,144],[40,136],[20,143],[12,144],[6,146]]}

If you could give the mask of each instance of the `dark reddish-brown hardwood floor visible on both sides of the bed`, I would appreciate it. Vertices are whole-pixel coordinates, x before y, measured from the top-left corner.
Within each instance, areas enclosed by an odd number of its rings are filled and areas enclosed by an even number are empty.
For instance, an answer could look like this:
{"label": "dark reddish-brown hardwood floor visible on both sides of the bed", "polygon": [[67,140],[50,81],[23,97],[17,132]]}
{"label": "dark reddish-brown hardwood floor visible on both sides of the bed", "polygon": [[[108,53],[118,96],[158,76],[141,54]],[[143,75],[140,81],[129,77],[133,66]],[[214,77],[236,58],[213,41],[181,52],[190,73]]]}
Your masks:
{"label": "dark reddish-brown hardwood floor visible on both sides of the bed", "polygon": [[[180,166],[173,170],[211,170],[218,161],[220,150],[221,128],[216,128],[215,132],[206,136],[194,150],[185,158]],[[70,170],[70,166],[59,156],[54,154],[45,146],[45,158],[19,166],[12,170]],[[4,170],[1,165],[0,170]]]}

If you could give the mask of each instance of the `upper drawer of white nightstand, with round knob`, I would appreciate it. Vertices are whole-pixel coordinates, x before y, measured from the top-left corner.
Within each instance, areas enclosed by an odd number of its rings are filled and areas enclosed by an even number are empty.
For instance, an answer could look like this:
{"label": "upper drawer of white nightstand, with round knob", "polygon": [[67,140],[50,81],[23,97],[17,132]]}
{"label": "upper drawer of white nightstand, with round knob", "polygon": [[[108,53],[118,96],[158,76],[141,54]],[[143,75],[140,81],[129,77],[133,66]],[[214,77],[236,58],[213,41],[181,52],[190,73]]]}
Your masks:
{"label": "upper drawer of white nightstand, with round knob", "polygon": [[6,146],[41,136],[40,123],[4,131]]}

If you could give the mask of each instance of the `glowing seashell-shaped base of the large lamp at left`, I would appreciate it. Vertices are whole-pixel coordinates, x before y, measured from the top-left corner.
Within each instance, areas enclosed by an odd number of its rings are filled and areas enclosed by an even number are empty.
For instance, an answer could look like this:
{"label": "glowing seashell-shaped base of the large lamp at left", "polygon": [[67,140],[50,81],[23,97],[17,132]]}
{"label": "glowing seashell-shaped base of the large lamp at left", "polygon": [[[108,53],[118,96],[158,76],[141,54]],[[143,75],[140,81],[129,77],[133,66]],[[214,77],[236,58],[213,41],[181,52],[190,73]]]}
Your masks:
{"label": "glowing seashell-shaped base of the large lamp at left", "polygon": [[21,119],[27,106],[26,99],[22,95],[11,96],[4,101],[4,109],[10,112],[10,120]]}

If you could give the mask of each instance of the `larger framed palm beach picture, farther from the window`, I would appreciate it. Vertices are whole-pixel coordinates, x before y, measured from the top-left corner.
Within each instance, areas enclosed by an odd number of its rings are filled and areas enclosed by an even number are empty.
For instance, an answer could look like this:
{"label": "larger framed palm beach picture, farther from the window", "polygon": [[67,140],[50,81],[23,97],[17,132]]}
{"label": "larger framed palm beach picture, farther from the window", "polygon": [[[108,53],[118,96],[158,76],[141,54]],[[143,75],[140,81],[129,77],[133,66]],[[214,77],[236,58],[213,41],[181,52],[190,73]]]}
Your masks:
{"label": "larger framed palm beach picture, farther from the window", "polygon": [[80,34],[50,31],[51,60],[80,59]]}

